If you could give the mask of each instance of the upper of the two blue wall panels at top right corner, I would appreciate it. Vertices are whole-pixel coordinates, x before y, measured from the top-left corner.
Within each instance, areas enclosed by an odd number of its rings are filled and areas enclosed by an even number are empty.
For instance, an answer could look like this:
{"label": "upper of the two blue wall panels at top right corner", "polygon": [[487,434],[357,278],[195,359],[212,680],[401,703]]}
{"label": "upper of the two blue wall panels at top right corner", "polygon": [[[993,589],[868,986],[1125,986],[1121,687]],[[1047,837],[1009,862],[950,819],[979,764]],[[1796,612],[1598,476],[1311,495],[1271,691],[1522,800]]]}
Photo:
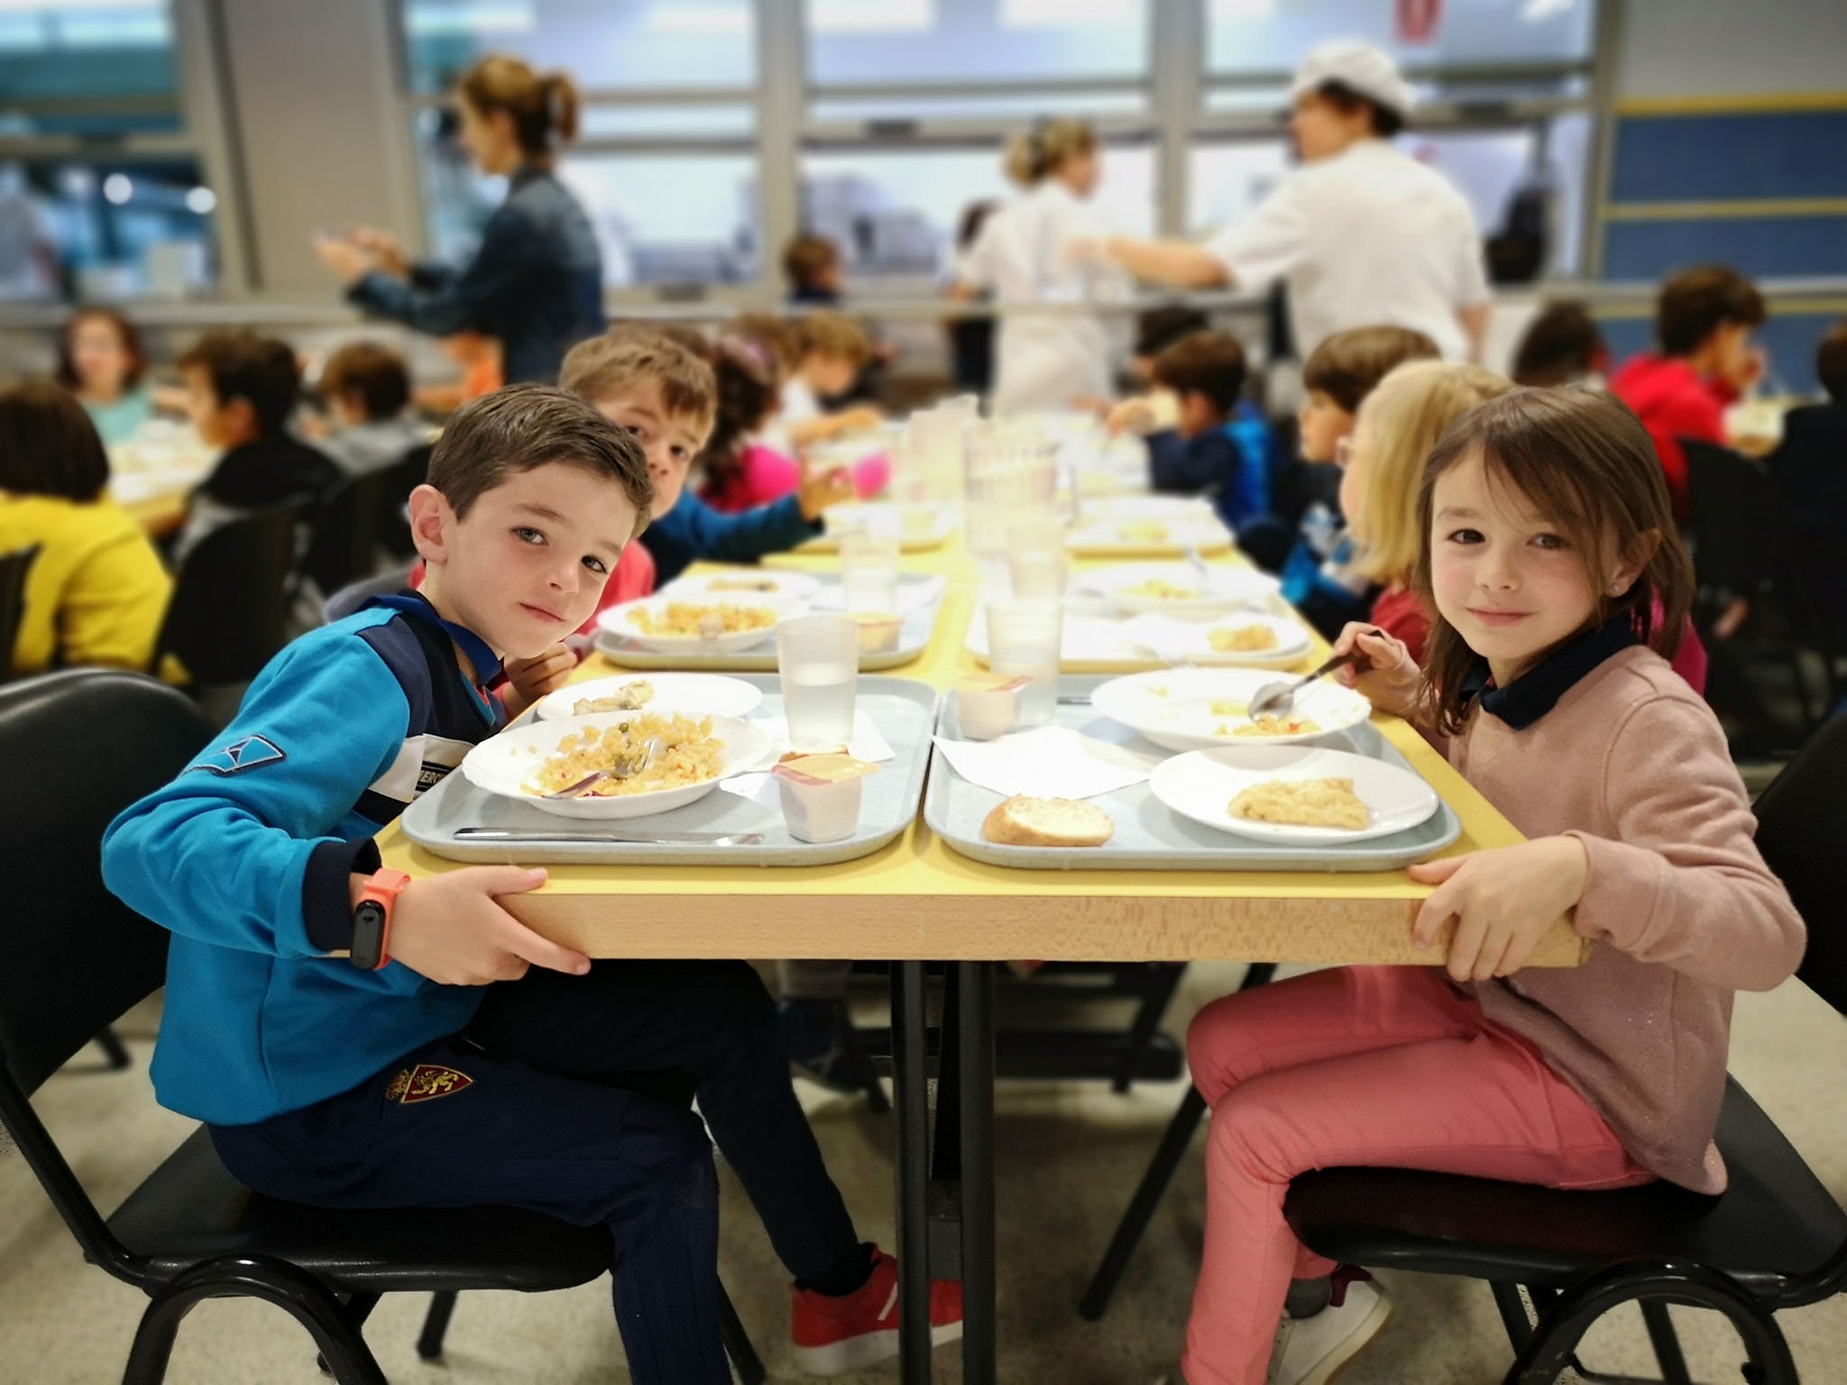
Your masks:
{"label": "upper of the two blue wall panels at top right corner", "polygon": [[1627,116],[1611,201],[1847,198],[1847,111]]}

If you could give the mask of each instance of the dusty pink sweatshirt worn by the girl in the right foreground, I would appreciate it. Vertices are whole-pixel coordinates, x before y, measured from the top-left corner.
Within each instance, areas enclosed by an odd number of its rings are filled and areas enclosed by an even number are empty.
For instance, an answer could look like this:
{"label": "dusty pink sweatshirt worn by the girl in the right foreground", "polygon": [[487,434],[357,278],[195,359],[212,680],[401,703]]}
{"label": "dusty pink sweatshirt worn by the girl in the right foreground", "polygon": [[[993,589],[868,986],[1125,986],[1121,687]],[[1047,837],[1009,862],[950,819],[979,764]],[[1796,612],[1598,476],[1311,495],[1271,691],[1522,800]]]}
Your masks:
{"label": "dusty pink sweatshirt worn by the girl in the right foreground", "polygon": [[1638,1163],[1721,1191],[1732,992],[1786,981],[1806,934],[1751,840],[1712,711],[1629,646],[1526,729],[1478,705],[1450,761],[1522,833],[1570,833],[1590,859],[1575,912],[1590,960],[1474,982],[1483,1012],[1537,1043]]}

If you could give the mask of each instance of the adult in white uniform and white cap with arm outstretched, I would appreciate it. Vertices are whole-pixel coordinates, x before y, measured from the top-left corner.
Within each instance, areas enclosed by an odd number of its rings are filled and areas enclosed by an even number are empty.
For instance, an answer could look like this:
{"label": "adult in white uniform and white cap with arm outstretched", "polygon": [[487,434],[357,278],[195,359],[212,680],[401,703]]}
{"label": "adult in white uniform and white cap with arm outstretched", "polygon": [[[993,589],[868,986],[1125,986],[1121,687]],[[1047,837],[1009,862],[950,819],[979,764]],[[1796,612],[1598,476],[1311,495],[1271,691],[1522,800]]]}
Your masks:
{"label": "adult in white uniform and white cap with arm outstretched", "polygon": [[1302,166],[1204,246],[1117,240],[1103,255],[1143,279],[1262,290],[1284,279],[1297,353],[1348,327],[1409,327],[1450,360],[1479,353],[1489,288],[1481,233],[1443,174],[1391,142],[1411,89],[1367,42],[1315,48],[1295,78]]}

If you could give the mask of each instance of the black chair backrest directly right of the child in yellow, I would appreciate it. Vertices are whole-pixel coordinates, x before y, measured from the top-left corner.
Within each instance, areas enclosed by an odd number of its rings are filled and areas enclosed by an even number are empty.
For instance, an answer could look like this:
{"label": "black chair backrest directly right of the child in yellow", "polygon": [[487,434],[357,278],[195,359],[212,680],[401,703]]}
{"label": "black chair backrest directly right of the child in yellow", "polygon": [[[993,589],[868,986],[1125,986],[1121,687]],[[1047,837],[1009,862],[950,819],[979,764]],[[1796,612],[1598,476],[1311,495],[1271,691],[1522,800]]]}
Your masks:
{"label": "black chair backrest directly right of the child in yellow", "polygon": [[233,519],[194,545],[179,567],[153,668],[179,657],[194,683],[247,683],[288,643],[290,572],[303,506]]}

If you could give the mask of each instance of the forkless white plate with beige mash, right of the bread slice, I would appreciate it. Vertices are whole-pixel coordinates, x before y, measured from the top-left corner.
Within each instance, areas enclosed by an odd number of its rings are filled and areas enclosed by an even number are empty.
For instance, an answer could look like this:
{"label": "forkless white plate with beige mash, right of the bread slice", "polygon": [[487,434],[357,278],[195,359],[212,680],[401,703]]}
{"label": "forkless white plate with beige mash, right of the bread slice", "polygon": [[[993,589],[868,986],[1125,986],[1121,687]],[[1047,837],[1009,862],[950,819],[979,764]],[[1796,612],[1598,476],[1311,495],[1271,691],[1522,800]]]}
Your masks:
{"label": "forkless white plate with beige mash, right of the bread slice", "polygon": [[[1271,779],[1352,779],[1370,822],[1361,831],[1304,827],[1287,822],[1250,822],[1226,809],[1252,785]],[[1437,811],[1437,790],[1409,770],[1321,746],[1225,746],[1175,755],[1154,766],[1149,789],[1182,818],[1260,842],[1328,846],[1391,837],[1426,822]]]}

